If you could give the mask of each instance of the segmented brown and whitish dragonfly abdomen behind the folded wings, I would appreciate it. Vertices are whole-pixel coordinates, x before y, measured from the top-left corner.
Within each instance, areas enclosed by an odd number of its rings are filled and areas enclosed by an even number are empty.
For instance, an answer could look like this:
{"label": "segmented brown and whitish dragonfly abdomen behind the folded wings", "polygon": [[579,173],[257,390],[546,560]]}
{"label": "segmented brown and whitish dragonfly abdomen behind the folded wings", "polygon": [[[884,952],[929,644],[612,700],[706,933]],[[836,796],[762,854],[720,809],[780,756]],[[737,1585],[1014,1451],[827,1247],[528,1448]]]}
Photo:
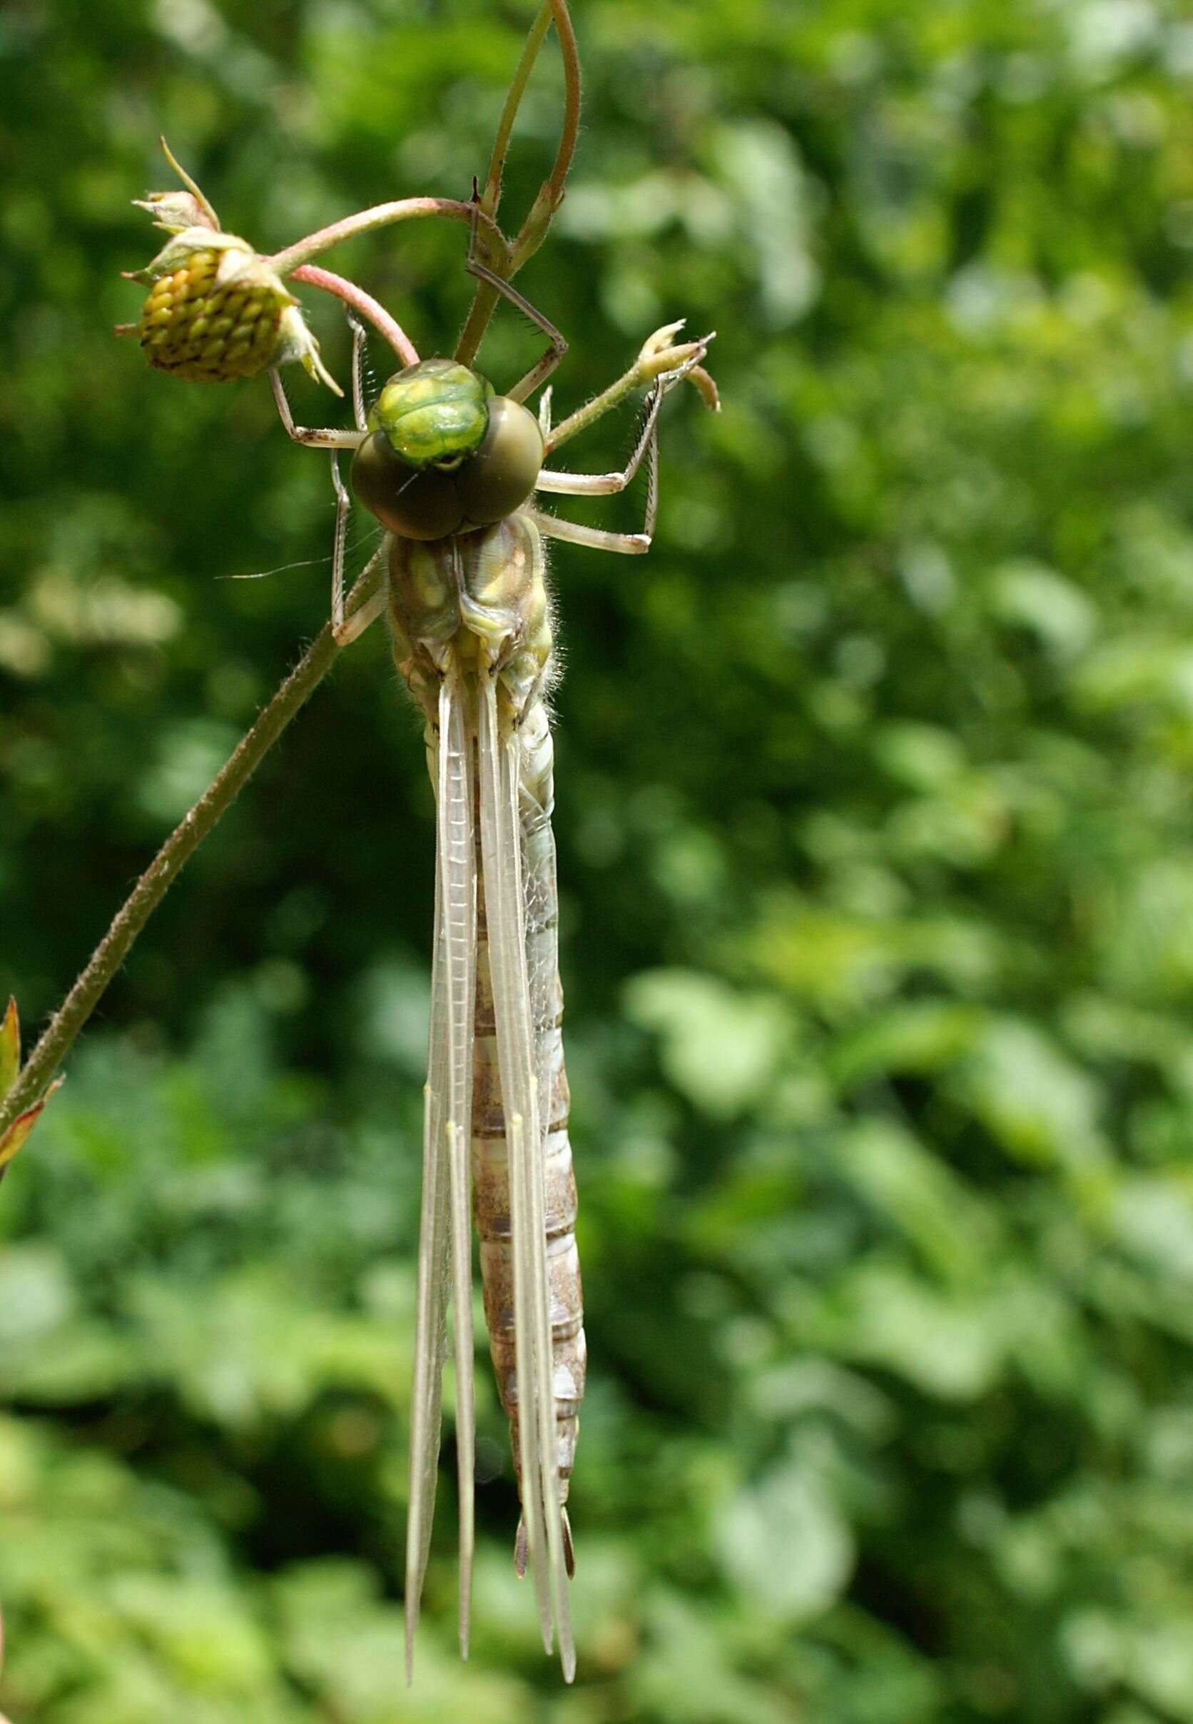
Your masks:
{"label": "segmented brown and whitish dragonfly abdomen behind the folded wings", "polygon": [[[555,1390],[560,1502],[576,1457],[579,1403],[584,1395],[584,1327],[576,1253],[576,1176],[567,1138],[567,1072],[564,1071],[564,991],[559,981],[559,895],[552,834],[553,750],[547,707],[531,696],[519,726],[519,812],[522,828],[522,891],[526,896],[526,962],[531,991],[534,1052],[540,1072],[547,1267],[552,1305],[552,1376]],[[478,876],[481,872],[478,853]],[[517,1371],[514,1365],[514,1262],[510,1255],[510,1191],[505,1114],[497,1064],[493,995],[490,986],[484,893],[478,891],[476,1052],[472,1064],[472,1200],[481,1234],[484,1321],[502,1407],[510,1421],[514,1467],[517,1443]]]}

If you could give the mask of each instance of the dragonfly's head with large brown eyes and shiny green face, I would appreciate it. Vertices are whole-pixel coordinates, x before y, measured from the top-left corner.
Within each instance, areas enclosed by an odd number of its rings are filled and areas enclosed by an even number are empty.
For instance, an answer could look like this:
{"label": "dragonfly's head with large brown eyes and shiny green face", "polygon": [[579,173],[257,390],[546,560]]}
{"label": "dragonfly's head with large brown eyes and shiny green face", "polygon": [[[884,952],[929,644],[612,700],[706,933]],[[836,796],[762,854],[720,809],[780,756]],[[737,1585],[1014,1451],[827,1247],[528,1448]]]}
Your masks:
{"label": "dragonfly's head with large brown eyes and shiny green face", "polygon": [[352,488],[391,533],[447,538],[491,526],[534,490],[538,421],[452,359],[390,378],[352,459]]}

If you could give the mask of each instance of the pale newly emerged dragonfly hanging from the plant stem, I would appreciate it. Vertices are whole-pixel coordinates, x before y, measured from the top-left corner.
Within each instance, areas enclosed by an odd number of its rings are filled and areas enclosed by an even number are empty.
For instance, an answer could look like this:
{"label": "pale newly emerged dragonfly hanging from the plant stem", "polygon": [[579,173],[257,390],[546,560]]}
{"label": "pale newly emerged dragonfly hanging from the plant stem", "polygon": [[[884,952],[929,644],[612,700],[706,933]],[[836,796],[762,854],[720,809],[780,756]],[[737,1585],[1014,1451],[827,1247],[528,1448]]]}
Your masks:
{"label": "pale newly emerged dragonfly hanging from the plant stem", "polygon": [[[460,1524],[460,1648],[467,1652],[474,1545],[472,1231],[479,1233],[484,1317],[510,1421],[522,1515],[519,1574],[534,1576],[543,1645],[559,1640],[571,1681],[576,1653],[567,1579],[567,1486],[584,1393],[584,1331],[576,1253],[576,1179],[567,1136],[560,1040],[553,771],[547,693],[553,615],[543,538],[612,552],[650,548],[660,403],[705,355],[688,345],[652,384],[624,471],[543,465],[550,393],[524,402],[565,352],[559,331],[509,283],[490,281],[548,336],[543,359],[505,395],[455,360],[421,360],[383,386],[365,412],[362,329],[353,324],[352,431],[293,422],[279,376],[274,397],[291,438],[333,452],[340,500],[333,622],[352,640],[388,610],[395,662],[426,717],[436,796],[431,1036],[422,1134],[422,1210],[407,1524],[407,1667],[431,1543],[448,1331],[455,1355]],[[678,324],[659,333],[665,343]],[[336,452],[352,450],[352,488],[384,528],[383,590],[345,621],[348,512]],[[609,495],[646,464],[638,533],[560,521],[536,493]],[[448,1322],[450,1312],[450,1322]]]}

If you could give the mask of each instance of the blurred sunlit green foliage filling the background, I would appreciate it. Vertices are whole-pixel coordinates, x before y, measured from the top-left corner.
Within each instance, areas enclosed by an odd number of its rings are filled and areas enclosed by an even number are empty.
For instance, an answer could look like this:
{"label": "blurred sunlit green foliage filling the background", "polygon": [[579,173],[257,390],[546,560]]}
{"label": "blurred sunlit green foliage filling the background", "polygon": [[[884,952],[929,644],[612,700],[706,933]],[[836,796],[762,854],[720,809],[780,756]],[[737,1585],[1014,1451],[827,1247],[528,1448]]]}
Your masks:
{"label": "blurred sunlit green foliage filling the background", "polygon": [[[217,579],[329,543],[326,464],[267,390],[110,340],[157,133],[262,248],[462,195],[528,19],[0,16],[0,981],[29,1026],[328,605],[326,564]],[[572,340],[557,410],[681,314],[724,391],[719,419],[669,403],[645,564],[555,557],[579,1683],[514,1579],[488,1377],[472,1660],[445,1476],[402,1683],[431,796],[374,629],[3,1186],[0,1705],[1193,1721],[1193,26],[1177,0],[576,24],[578,169],[524,278]],[[512,214],[557,102],[548,50]],[[422,224],[345,267],[434,352],[460,262]],[[533,350],[503,315],[486,369]]]}

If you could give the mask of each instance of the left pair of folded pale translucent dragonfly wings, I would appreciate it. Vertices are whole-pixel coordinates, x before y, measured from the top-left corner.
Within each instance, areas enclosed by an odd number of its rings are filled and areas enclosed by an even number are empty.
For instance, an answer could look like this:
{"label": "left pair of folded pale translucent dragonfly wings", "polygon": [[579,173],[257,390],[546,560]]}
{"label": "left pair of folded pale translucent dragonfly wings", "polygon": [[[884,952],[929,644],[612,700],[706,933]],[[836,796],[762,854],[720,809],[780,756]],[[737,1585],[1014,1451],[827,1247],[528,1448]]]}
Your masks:
{"label": "left pair of folded pale translucent dragonfly wings", "polygon": [[410,1414],[410,1505],[405,1552],[405,1662],[414,1665],[431,1548],[443,1422],[447,1310],[453,1307],[455,1448],[460,1496],[460,1652],[472,1595],[476,1412],[472,1395],[472,1015],[476,998],[474,769],[469,710],[457,669],[440,688],[434,759],[436,865],[431,1043],[422,1117],[422,1217]]}

